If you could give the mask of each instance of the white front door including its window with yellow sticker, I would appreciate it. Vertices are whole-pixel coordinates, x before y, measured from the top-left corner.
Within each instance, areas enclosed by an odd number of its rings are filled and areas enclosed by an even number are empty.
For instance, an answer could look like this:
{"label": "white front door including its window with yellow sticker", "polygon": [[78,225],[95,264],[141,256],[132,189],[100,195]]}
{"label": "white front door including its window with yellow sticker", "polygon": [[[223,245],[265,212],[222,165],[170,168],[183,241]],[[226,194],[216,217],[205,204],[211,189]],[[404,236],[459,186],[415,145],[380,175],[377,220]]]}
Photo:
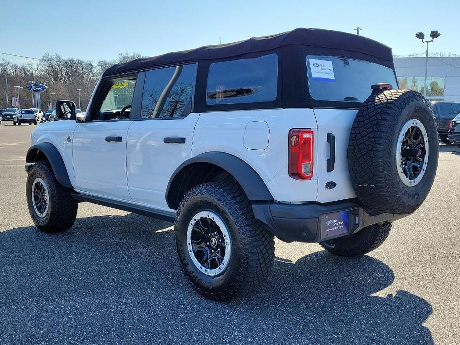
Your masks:
{"label": "white front door including its window with yellow sticker", "polygon": [[137,76],[107,79],[99,86],[85,121],[72,140],[76,190],[130,201],[126,146]]}

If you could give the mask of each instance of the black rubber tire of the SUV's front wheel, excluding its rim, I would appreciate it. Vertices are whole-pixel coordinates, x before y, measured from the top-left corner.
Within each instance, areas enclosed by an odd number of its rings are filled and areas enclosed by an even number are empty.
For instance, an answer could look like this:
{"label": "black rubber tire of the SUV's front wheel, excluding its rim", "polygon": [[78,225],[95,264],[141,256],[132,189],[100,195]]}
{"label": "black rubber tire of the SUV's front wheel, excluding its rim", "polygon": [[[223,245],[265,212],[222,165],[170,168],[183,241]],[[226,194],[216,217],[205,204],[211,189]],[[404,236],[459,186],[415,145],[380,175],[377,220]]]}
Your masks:
{"label": "black rubber tire of the SUV's front wheel, excluding its rim", "polygon": [[[44,217],[37,214],[32,204],[32,185],[37,177],[45,181],[49,192],[48,212]],[[58,182],[48,162],[40,161],[30,168],[26,183],[27,205],[30,216],[38,229],[54,233],[67,230],[74,224],[78,203],[70,193],[70,189]]]}

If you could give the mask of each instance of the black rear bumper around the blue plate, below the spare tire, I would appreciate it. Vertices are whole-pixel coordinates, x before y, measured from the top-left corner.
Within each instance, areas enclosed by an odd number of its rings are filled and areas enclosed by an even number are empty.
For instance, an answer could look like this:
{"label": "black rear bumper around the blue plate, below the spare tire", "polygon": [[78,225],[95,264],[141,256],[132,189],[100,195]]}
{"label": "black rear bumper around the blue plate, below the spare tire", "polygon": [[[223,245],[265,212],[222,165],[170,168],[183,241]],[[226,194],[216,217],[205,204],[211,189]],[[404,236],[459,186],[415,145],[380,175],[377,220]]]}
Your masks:
{"label": "black rear bumper around the blue plate, below the spare tire", "polygon": [[[277,238],[285,242],[321,242],[354,234],[368,225],[392,222],[407,216],[392,213],[369,214],[356,199],[325,204],[263,202],[253,204],[252,208],[256,219],[264,223]],[[321,216],[341,211],[349,211],[349,234],[322,238]]]}

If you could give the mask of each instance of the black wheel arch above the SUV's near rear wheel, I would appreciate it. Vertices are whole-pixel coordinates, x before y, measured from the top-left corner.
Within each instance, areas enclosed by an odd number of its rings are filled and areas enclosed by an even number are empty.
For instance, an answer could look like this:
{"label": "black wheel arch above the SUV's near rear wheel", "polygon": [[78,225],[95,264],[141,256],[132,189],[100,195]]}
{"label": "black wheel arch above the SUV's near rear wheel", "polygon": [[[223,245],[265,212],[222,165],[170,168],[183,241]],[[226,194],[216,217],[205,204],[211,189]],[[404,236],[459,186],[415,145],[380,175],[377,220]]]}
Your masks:
{"label": "black wheel arch above the SUV's near rear wheel", "polygon": [[228,153],[206,152],[188,159],[174,171],[165,193],[168,207],[177,209],[190,187],[219,180],[226,174],[241,185],[249,200],[273,200],[265,182],[249,164]]}

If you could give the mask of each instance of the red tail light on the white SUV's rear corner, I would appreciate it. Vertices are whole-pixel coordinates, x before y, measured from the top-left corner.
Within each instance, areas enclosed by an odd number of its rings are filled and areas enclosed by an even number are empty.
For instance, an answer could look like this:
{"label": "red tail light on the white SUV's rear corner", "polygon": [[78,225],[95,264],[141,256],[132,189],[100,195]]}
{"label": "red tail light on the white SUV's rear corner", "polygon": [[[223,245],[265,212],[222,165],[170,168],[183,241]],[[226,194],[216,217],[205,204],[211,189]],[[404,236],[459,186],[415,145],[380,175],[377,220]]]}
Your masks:
{"label": "red tail light on the white SUV's rear corner", "polygon": [[291,129],[289,132],[289,175],[295,179],[313,177],[313,131]]}

